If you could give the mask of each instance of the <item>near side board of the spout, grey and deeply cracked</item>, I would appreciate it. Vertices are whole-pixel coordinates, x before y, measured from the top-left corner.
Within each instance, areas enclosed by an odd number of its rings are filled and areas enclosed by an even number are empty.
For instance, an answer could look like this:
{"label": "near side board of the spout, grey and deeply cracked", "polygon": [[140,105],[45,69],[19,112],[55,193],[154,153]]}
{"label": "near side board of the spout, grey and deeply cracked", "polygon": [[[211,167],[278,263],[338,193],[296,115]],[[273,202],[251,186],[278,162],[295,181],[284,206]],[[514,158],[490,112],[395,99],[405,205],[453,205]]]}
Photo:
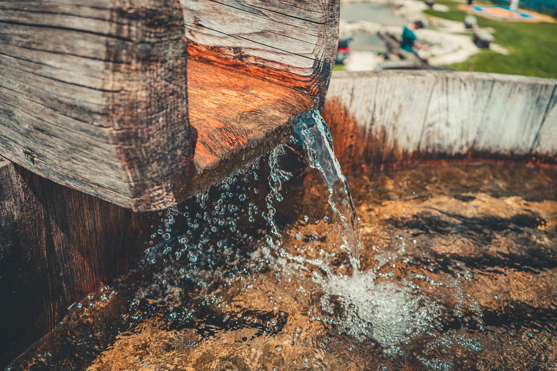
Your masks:
{"label": "near side board of the spout, grey and deeply cracked", "polygon": [[178,0],[0,2],[0,153],[133,210],[179,202],[192,159]]}

